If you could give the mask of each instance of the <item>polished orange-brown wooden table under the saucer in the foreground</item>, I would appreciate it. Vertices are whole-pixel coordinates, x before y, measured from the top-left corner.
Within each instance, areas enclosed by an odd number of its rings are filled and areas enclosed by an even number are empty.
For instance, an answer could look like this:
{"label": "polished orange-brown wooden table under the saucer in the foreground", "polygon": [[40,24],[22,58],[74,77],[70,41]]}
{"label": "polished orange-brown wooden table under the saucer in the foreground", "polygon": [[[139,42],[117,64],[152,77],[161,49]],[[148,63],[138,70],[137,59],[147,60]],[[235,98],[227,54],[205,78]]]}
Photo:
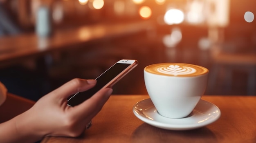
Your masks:
{"label": "polished orange-brown wooden table under the saucer in the foreground", "polygon": [[92,127],[78,138],[46,137],[42,143],[256,143],[256,97],[203,96],[221,110],[205,127],[172,131],[139,120],[132,106],[148,95],[112,95]]}

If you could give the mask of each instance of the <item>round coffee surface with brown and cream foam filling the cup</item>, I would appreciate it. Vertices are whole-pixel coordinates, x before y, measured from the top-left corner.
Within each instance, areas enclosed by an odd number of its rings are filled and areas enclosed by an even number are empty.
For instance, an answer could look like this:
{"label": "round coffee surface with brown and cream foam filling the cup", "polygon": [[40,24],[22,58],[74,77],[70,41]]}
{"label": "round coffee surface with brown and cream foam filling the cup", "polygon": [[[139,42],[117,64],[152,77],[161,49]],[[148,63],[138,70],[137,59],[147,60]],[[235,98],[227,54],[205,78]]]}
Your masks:
{"label": "round coffee surface with brown and cream foam filling the cup", "polygon": [[149,73],[157,75],[168,75],[177,77],[191,77],[204,75],[209,72],[207,68],[193,64],[182,63],[159,63],[146,66],[144,68]]}

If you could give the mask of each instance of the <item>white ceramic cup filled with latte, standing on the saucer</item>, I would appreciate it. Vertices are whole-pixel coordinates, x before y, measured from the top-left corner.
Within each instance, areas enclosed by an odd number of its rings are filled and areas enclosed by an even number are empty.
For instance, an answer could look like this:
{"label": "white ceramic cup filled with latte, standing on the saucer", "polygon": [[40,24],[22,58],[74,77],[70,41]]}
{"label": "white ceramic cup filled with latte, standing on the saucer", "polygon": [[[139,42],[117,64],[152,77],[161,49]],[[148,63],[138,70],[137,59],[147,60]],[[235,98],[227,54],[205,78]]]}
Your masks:
{"label": "white ceramic cup filled with latte, standing on the saucer", "polygon": [[184,118],[204,94],[208,73],[207,68],[193,64],[159,63],[144,68],[144,81],[160,115]]}

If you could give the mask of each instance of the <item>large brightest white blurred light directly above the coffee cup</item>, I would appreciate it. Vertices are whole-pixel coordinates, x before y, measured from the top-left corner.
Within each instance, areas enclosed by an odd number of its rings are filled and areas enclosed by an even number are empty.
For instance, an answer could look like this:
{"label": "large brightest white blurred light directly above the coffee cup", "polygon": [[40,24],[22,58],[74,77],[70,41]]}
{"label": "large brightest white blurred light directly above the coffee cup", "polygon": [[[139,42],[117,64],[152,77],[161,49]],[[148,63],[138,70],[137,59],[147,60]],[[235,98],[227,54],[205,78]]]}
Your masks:
{"label": "large brightest white blurred light directly above the coffee cup", "polygon": [[184,21],[184,13],[179,9],[169,9],[164,15],[164,22],[168,25],[180,24]]}

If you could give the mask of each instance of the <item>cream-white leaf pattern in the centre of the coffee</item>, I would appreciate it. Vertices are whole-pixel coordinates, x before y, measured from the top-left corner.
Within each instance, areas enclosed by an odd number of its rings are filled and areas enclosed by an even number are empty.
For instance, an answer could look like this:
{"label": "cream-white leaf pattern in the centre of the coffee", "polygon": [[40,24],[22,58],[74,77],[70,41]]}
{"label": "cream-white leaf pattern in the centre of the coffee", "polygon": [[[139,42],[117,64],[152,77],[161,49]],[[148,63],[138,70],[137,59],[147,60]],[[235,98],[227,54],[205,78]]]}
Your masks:
{"label": "cream-white leaf pattern in the centre of the coffee", "polygon": [[192,73],[195,73],[196,70],[195,68],[191,68],[188,66],[178,66],[178,65],[170,65],[168,67],[159,67],[157,68],[157,71],[159,73],[164,73],[164,74],[168,74],[168,75],[189,75]]}

